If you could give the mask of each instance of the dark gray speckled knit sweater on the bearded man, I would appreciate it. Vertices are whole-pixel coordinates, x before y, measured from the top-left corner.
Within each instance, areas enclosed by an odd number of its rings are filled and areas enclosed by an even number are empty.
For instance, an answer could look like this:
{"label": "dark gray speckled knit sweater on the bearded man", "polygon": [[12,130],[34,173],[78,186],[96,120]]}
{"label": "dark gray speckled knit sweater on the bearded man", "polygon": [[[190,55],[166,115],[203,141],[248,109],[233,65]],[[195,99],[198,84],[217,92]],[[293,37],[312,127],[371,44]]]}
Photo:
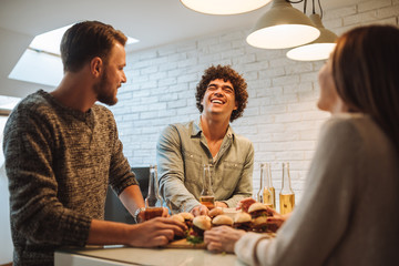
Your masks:
{"label": "dark gray speckled knit sweater on the bearded man", "polygon": [[82,113],[38,91],[12,111],[3,150],[14,265],[52,265],[58,246],[84,246],[109,183],[117,194],[137,184],[102,105]]}

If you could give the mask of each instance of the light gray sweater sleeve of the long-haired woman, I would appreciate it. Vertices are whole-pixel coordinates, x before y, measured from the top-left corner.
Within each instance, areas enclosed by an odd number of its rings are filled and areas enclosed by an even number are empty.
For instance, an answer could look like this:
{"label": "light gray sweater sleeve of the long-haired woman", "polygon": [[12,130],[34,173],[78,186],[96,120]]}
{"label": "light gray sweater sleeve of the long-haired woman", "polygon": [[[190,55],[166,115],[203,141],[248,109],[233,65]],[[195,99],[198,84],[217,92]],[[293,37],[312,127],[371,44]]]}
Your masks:
{"label": "light gray sweater sleeve of the long-haired woman", "polygon": [[[356,198],[355,176],[361,174],[359,133],[347,121],[331,119],[321,129],[319,145],[303,198],[272,241],[243,237],[238,257],[252,265],[323,265],[345,237]],[[316,248],[317,247],[317,248]]]}

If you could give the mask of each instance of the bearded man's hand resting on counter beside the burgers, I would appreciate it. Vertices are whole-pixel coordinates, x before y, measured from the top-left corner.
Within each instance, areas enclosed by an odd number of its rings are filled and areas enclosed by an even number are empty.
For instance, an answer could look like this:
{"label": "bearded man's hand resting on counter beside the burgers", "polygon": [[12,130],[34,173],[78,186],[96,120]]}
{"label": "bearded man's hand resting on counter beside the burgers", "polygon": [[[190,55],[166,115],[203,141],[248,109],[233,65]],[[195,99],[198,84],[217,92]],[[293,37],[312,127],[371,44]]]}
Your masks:
{"label": "bearded man's hand resting on counter beside the burgers", "polygon": [[172,218],[156,217],[144,223],[132,225],[127,233],[129,246],[156,247],[166,245],[174,235],[184,236],[187,226]]}

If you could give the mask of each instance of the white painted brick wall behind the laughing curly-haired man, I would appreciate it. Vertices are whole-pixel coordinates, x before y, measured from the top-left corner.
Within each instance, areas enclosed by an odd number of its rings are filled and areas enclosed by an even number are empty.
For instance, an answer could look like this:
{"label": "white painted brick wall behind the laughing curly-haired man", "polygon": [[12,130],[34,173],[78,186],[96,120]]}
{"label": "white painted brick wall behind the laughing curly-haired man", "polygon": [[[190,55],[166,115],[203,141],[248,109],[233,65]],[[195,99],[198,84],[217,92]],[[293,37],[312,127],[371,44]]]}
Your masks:
{"label": "white painted brick wall behind the laughing curly-haired man", "polygon": [[[354,0],[355,4],[324,10],[325,27],[337,34],[356,25],[398,25],[398,0]],[[324,62],[296,62],[288,50],[262,50],[245,42],[248,29],[203,37],[127,54],[127,83],[112,106],[124,152],[132,166],[155,163],[160,131],[170,123],[197,119],[195,86],[211,64],[231,64],[248,83],[244,116],[232,126],[255,147],[254,192],[259,163],[273,163],[280,190],[282,162],[290,162],[293,188],[300,200],[320,125],[329,116],[316,108],[317,72]]]}

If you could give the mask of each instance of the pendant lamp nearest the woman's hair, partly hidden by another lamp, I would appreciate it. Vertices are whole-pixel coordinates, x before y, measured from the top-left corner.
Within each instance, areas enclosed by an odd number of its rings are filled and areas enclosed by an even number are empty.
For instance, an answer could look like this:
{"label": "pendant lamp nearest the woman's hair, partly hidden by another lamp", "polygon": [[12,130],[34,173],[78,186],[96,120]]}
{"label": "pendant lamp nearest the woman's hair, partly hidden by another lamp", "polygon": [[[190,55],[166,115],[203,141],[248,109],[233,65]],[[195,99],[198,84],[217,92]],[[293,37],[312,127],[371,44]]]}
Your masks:
{"label": "pendant lamp nearest the woman's hair, partly hidden by another lamp", "polygon": [[320,16],[310,14],[310,20],[320,30],[320,35],[315,41],[294,48],[287,52],[287,58],[298,61],[317,61],[328,59],[334,50],[337,40],[337,34],[327,30],[323,23]]}

